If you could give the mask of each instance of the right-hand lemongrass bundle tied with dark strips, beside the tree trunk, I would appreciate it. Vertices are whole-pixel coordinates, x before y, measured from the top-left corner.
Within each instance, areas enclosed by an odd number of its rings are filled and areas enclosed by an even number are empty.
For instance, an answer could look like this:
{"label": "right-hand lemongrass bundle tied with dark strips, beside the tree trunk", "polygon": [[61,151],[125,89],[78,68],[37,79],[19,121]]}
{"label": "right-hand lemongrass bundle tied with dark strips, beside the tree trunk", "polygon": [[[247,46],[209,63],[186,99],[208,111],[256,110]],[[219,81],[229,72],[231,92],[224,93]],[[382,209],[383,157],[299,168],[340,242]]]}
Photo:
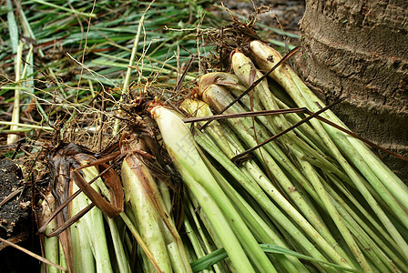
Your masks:
{"label": "right-hand lemongrass bundle tied with dark strips, beside the tree trunk", "polygon": [[[265,71],[281,59],[259,41],[252,42],[250,49]],[[199,96],[216,113],[243,116],[250,110],[254,114],[219,123],[200,121],[203,130],[195,133],[199,146],[257,200],[290,248],[366,272],[406,271],[403,234],[408,227],[408,190],[403,182],[322,105],[289,66],[271,72],[274,81],[270,82],[241,53],[232,56],[231,66],[235,75],[202,76]],[[247,89],[252,90],[250,95],[242,96]],[[234,96],[240,104],[234,103]],[[298,106],[296,111],[302,114],[282,115],[288,105]],[[191,116],[211,115],[207,107],[202,102],[184,103]],[[317,116],[309,109],[324,113]],[[264,116],[269,110],[280,110],[279,116]],[[250,152],[256,160],[240,167],[232,164]],[[268,202],[278,207],[270,210]],[[284,221],[293,228],[286,228]]]}

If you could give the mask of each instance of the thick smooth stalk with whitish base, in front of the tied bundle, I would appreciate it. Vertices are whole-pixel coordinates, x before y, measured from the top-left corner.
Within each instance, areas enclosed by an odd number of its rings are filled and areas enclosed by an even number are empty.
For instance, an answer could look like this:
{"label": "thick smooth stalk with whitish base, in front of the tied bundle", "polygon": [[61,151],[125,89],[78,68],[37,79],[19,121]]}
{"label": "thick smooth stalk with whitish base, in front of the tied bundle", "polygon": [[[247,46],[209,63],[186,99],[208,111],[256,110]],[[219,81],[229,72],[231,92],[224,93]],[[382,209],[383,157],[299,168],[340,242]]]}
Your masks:
{"label": "thick smooth stalk with whitish base, in front of the tied bundle", "polygon": [[[158,123],[168,154],[172,157],[175,166],[181,176],[184,177],[194,196],[198,198],[200,205],[209,217],[211,225],[219,235],[222,235],[219,236],[219,239],[237,270],[243,272],[254,271],[242,249],[243,246],[248,247],[246,249],[248,255],[260,271],[273,268],[270,260],[262,252],[256,240],[250,234],[248,227],[245,226],[238,212],[231,206],[230,201],[219,188],[217,181],[212,177],[209,169],[201,159],[189,128],[184,125],[179,116],[163,106],[153,107],[150,113]],[[213,198],[217,200],[222,210]],[[214,215],[215,211],[219,212],[218,216]],[[225,216],[229,217],[230,223],[224,217],[220,217],[224,213]],[[221,222],[223,222],[224,227],[219,225]],[[232,230],[228,229],[230,225],[237,231],[242,247]],[[230,239],[227,240],[227,238]]]}

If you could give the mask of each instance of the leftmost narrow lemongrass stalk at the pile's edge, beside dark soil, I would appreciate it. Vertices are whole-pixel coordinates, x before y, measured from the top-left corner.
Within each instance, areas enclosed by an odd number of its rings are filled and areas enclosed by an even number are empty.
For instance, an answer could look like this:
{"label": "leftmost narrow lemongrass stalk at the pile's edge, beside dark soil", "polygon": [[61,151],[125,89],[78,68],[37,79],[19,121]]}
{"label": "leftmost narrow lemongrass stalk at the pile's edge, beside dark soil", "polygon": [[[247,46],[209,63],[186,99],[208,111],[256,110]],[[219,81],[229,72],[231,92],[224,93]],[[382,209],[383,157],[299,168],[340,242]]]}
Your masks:
{"label": "leftmost narrow lemongrass stalk at the pile's edge, beside dark soil", "polygon": [[[55,199],[51,192],[46,194],[46,198],[41,204],[42,212],[42,222],[44,223],[48,217],[52,214],[52,211],[56,209]],[[46,227],[46,234],[53,232],[56,229],[56,219],[52,220]],[[44,254],[45,258],[50,262],[59,264],[59,247],[58,247],[58,238],[57,237],[44,237]],[[60,272],[58,268],[55,268],[50,265],[43,264],[43,267],[46,267],[46,272],[48,273],[58,273]],[[44,268],[42,268],[44,270]]]}

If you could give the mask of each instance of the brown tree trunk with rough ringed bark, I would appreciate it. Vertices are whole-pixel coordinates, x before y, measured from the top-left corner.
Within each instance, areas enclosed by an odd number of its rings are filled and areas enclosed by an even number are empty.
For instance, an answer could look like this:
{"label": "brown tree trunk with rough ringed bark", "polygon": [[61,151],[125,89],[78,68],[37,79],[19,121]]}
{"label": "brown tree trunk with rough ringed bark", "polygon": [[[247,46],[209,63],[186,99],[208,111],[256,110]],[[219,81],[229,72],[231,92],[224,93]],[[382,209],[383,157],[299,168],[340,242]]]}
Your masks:
{"label": "brown tree trunk with rough ringed bark", "polygon": [[[408,3],[306,0],[298,72],[347,126],[408,157]],[[381,155],[408,183],[408,163]]]}

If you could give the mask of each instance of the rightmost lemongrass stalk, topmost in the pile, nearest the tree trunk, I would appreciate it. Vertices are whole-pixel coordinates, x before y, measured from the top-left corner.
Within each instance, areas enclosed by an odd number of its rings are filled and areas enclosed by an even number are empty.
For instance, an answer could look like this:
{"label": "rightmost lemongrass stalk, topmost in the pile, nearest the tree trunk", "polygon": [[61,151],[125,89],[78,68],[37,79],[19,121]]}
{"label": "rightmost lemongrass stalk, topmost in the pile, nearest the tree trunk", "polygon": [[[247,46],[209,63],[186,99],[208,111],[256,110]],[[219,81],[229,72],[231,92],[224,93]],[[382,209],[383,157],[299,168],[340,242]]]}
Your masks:
{"label": "rightmost lemongrass stalk, topmost in the pile, nearest the tree trunk", "polygon": [[[280,60],[279,53],[259,41],[253,41],[250,48],[255,62],[262,69],[270,69],[271,66],[274,66],[274,64]],[[307,106],[311,111],[317,111],[319,110],[319,106],[322,106],[320,99],[313,95],[311,90],[301,82],[299,76],[297,76],[289,66],[283,65],[279,67],[272,72],[270,76],[276,80],[280,86],[284,87],[298,106]],[[340,119],[331,111],[327,111],[322,114],[322,116],[345,127]],[[342,165],[344,171],[352,179],[352,183],[355,187],[358,187],[370,206],[374,209],[374,212],[380,217],[382,225],[387,228],[395,242],[399,244],[403,250],[404,257],[408,258],[407,243],[400,232],[393,227],[393,223],[388,219],[386,213],[378,206],[377,202],[380,200],[375,200],[370,193],[367,192],[364,180],[367,179],[370,185],[381,196],[380,198],[389,206],[388,209],[393,211],[395,217],[399,219],[405,228],[408,227],[408,187],[406,187],[398,177],[393,175],[392,171],[386,167],[378,157],[373,155],[360,140],[349,137],[332,126],[317,120],[311,120],[311,124],[318,131],[325,144],[331,148],[331,154],[333,157],[336,157],[339,164]],[[345,159],[344,156],[346,156],[350,162]],[[355,166],[365,179],[360,177],[351,165]]]}

